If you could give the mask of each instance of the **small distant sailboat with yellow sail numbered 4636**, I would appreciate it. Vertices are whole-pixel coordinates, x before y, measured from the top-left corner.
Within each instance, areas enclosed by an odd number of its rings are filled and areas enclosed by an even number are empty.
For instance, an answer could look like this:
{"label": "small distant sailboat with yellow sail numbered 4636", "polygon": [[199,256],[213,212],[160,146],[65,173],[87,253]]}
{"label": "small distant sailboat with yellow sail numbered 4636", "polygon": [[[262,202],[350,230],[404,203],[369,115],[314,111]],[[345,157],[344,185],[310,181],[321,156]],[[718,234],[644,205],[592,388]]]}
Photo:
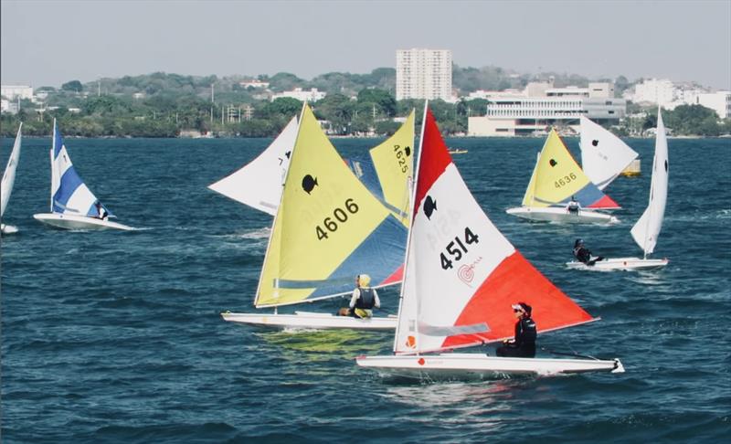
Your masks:
{"label": "small distant sailboat with yellow sail numbered 4636", "polygon": [[[578,211],[568,211],[572,199],[579,204]],[[522,206],[507,213],[538,221],[611,224],[619,219],[595,210],[617,208],[584,174],[554,129],[538,154]]]}

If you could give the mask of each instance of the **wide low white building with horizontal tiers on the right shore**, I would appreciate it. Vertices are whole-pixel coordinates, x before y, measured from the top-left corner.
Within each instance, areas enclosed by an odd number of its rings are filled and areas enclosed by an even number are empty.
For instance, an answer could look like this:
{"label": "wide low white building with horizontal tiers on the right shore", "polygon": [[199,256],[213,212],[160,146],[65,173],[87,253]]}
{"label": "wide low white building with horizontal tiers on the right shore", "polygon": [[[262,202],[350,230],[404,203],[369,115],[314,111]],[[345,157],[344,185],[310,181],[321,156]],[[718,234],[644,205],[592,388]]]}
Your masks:
{"label": "wide low white building with horizontal tiers on the right shore", "polygon": [[471,136],[532,135],[553,125],[576,126],[582,115],[593,121],[619,121],[627,101],[615,99],[610,83],[588,88],[553,88],[548,82],[529,83],[523,92],[491,94],[483,116],[469,117]]}

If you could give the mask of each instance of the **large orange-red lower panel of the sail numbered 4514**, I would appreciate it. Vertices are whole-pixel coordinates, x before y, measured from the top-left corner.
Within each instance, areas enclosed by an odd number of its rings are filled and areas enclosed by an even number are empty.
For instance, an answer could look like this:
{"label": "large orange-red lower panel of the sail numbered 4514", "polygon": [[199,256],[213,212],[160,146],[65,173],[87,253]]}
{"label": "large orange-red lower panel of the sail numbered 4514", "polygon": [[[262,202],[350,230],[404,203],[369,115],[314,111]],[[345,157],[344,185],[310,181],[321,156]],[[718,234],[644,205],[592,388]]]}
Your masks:
{"label": "large orange-red lower panel of the sail numbered 4514", "polygon": [[538,332],[593,319],[516,250],[482,282],[455,322],[455,326],[486,322],[490,332],[450,336],[442,348],[513,337],[516,318],[511,305],[517,302],[533,307]]}

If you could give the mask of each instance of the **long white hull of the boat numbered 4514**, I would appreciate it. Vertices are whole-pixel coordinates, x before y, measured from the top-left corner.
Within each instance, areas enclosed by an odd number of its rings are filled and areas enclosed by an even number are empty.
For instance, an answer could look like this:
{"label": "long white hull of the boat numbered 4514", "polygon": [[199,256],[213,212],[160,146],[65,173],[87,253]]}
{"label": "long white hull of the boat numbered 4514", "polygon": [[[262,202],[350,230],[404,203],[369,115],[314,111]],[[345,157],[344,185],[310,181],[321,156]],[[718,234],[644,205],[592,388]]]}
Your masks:
{"label": "long white hull of the boat numbered 4514", "polygon": [[560,375],[587,372],[624,373],[619,359],[550,359],[493,357],[487,354],[359,356],[357,365],[381,375],[408,378],[501,378],[512,375]]}

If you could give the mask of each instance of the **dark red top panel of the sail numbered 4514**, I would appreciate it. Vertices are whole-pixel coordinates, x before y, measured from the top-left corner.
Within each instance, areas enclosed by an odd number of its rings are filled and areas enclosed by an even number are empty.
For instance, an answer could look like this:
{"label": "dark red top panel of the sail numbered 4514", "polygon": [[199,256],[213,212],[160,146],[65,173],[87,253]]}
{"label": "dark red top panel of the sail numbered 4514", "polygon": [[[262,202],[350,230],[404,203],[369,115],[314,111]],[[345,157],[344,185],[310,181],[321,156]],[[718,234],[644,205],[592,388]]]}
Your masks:
{"label": "dark red top panel of the sail numbered 4514", "polygon": [[427,109],[427,117],[424,122],[424,136],[421,139],[419,156],[417,193],[412,217],[416,217],[421,199],[429,192],[431,185],[434,185],[434,182],[451,164],[450,152],[441,138],[440,129],[429,109]]}

